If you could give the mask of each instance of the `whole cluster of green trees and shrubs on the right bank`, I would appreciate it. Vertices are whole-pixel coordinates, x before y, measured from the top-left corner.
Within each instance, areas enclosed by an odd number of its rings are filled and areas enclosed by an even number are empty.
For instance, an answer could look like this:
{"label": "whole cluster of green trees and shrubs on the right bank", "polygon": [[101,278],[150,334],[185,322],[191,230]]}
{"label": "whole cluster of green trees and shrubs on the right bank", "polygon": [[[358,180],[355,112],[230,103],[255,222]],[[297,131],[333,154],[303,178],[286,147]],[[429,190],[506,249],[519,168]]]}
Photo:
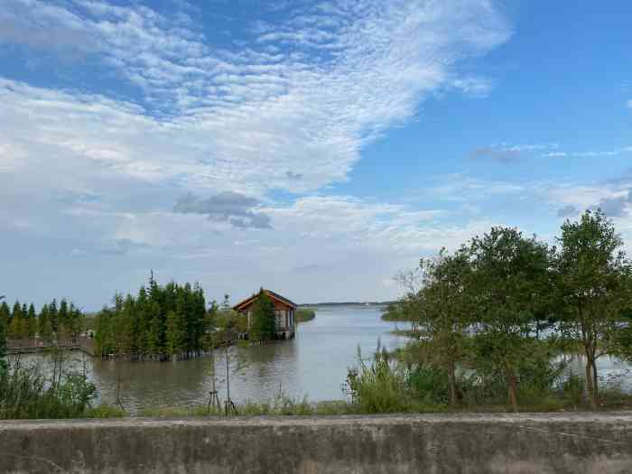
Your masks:
{"label": "whole cluster of green trees and shrubs on the right bank", "polygon": [[397,275],[407,293],[388,314],[413,322],[399,356],[414,398],[445,402],[447,383],[451,404],[577,404],[576,380],[551,362],[563,350],[586,357],[597,407],[596,359],[632,359],[632,265],[601,211],[566,221],[558,240],[492,228]]}

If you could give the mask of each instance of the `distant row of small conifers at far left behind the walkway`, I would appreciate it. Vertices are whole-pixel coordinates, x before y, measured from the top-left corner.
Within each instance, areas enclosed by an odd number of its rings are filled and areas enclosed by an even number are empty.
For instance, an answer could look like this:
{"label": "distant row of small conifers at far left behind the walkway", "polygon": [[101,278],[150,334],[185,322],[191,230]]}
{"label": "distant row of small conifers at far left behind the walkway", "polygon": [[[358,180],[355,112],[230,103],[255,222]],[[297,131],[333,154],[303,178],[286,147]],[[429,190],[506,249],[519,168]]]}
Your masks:
{"label": "distant row of small conifers at far left behind the walkway", "polygon": [[10,307],[0,304],[0,324],[5,327],[7,339],[34,339],[44,342],[59,339],[77,339],[83,327],[83,314],[73,303],[53,300],[38,312],[33,303],[15,302]]}

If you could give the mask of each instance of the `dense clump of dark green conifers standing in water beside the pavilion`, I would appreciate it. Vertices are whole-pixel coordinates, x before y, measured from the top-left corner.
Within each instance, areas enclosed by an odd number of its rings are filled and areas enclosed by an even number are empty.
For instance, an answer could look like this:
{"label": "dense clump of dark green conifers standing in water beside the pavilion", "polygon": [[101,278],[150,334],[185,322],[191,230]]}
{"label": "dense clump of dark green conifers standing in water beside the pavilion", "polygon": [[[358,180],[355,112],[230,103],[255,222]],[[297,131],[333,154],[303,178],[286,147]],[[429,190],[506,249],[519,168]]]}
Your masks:
{"label": "dense clump of dark green conifers standing in water beside the pavilion", "polygon": [[130,360],[190,358],[212,344],[213,312],[200,284],[159,285],[150,278],[137,295],[116,295],[114,306],[98,312],[98,355]]}

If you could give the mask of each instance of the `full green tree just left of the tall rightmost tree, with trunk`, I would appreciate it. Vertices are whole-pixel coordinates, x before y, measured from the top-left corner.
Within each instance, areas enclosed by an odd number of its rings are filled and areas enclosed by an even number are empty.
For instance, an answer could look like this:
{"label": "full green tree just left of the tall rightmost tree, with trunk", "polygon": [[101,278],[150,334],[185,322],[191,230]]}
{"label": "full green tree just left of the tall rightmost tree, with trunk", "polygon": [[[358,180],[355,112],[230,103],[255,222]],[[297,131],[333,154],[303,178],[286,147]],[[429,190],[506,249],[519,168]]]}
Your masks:
{"label": "full green tree just left of the tall rightmost tree, with trunk", "polygon": [[549,288],[551,251],[515,228],[492,228],[472,239],[470,254],[469,288],[479,323],[476,354],[504,374],[509,403],[517,411],[516,366],[529,355],[529,326]]}

